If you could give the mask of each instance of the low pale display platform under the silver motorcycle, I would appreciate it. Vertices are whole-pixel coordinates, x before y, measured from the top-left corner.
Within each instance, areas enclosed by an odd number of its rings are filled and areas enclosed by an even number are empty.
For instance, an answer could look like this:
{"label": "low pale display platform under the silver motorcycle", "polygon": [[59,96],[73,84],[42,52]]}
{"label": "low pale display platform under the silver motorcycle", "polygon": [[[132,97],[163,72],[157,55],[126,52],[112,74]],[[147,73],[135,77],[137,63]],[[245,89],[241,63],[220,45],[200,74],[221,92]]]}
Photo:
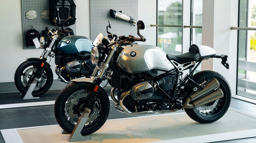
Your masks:
{"label": "low pale display platform under the silver motorcycle", "polygon": [[[64,143],[70,134],[61,134],[58,125],[1,130],[7,143]],[[90,143],[144,143],[144,142],[216,142],[256,137],[256,117],[230,108],[216,122],[202,124],[185,113],[157,114],[153,116],[113,119],[95,133],[84,137]]]}

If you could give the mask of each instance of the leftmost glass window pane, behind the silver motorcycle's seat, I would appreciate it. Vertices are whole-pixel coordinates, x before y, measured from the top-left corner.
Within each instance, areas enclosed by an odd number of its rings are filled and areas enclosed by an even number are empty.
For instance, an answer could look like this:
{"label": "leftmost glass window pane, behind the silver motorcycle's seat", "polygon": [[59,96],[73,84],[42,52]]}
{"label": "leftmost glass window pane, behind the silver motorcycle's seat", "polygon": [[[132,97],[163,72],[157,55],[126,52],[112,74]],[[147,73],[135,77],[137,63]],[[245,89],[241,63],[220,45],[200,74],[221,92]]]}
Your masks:
{"label": "leftmost glass window pane, behind the silver motorcycle's seat", "polygon": [[180,55],[182,48],[182,0],[158,0],[158,47]]}

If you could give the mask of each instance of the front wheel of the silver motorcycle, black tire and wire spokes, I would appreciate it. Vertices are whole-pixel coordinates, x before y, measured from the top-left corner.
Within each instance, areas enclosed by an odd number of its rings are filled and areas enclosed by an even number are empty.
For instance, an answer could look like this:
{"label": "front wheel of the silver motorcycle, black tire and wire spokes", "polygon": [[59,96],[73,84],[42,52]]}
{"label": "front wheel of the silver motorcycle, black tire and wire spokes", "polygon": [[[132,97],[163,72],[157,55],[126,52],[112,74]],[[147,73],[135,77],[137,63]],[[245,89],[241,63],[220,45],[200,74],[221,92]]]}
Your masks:
{"label": "front wheel of the silver motorcycle, black tire and wire spokes", "polygon": [[[54,114],[58,124],[64,131],[72,133],[74,130],[75,124],[84,111],[85,107],[83,105],[93,87],[94,84],[92,83],[72,82],[59,92],[55,100]],[[81,135],[89,135],[96,132],[108,118],[110,102],[106,91],[100,87],[96,97],[92,99],[94,105],[88,107],[92,111],[89,119],[87,119],[88,122],[81,131]]]}

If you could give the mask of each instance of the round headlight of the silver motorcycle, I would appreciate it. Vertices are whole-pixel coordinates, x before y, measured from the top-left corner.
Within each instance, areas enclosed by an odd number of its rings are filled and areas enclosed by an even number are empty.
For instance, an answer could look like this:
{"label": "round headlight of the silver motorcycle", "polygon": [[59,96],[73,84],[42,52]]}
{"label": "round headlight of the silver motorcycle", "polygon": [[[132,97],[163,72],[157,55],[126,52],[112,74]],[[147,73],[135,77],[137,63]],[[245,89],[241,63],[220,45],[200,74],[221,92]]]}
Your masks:
{"label": "round headlight of the silver motorcycle", "polygon": [[91,49],[91,60],[94,65],[103,62],[104,60],[104,51],[97,47],[92,47]]}

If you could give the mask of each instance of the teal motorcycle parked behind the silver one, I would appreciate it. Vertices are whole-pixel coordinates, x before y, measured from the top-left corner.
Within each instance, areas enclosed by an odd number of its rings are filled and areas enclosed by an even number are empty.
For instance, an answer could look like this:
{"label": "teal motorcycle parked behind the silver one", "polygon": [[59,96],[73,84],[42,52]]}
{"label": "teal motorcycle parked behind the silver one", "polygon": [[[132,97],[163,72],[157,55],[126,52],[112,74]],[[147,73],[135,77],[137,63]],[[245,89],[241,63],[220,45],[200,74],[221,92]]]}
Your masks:
{"label": "teal motorcycle parked behind the silver one", "polygon": [[75,78],[90,77],[96,67],[91,62],[92,40],[74,36],[73,31],[64,29],[63,26],[61,29],[49,30],[47,34],[49,37],[40,38],[43,54],[39,58],[28,58],[15,72],[15,85],[24,95],[34,79],[37,80],[32,91],[35,97],[44,94],[52,86],[53,72],[49,64],[51,57],[55,57],[58,80],[64,83],[70,83]]}

